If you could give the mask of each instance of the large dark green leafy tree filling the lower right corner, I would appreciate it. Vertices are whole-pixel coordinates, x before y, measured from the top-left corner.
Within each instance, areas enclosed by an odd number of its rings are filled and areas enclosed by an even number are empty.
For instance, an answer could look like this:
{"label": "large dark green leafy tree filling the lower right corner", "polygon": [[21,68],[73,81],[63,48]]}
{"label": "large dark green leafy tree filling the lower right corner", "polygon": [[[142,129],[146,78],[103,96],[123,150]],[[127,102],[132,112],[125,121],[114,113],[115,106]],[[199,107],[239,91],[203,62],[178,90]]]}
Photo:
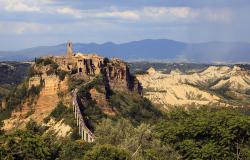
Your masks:
{"label": "large dark green leafy tree filling the lower right corner", "polygon": [[184,159],[250,158],[250,117],[236,109],[172,111],[156,131]]}

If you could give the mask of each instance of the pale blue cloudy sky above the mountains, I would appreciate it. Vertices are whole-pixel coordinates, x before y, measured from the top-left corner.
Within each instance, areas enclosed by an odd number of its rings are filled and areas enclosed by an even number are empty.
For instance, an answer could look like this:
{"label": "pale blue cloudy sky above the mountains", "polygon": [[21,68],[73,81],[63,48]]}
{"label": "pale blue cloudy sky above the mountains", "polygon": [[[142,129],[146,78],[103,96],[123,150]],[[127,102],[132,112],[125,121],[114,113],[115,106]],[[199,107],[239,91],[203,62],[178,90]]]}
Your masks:
{"label": "pale blue cloudy sky above the mountains", "polygon": [[0,50],[142,39],[250,42],[250,0],[0,0]]}

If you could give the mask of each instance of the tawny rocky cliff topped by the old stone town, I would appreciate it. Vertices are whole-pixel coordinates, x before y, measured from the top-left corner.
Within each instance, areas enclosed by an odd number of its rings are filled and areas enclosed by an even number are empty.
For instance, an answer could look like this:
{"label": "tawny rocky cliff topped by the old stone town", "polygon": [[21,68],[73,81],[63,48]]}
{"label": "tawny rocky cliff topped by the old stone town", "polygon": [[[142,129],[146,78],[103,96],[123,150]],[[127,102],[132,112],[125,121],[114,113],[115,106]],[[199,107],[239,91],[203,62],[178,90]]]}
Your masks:
{"label": "tawny rocky cliff topped by the old stone town", "polygon": [[[126,92],[141,95],[141,85],[130,74],[127,63],[119,59],[107,59],[95,54],[72,55],[57,57],[42,57],[35,60],[31,66],[27,81],[28,96],[18,109],[12,112],[11,118],[4,121],[4,129],[24,127],[33,119],[41,123],[55,109],[59,102],[71,105],[72,97],[69,86],[72,79],[88,82],[96,77],[103,77],[106,94],[92,89],[93,100],[101,106],[104,114],[115,115],[107,100],[108,92]],[[75,85],[74,88],[81,85]],[[38,91],[30,96],[30,91]],[[60,122],[61,124],[62,122]]]}

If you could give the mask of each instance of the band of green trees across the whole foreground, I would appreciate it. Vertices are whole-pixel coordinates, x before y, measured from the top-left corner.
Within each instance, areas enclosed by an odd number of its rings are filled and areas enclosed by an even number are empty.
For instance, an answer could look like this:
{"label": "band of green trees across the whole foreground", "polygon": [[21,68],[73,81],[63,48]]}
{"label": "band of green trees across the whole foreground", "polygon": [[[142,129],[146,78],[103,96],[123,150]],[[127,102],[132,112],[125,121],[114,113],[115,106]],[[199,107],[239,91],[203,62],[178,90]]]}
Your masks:
{"label": "band of green trees across the whole foreground", "polygon": [[[65,108],[66,109],[66,108]],[[62,113],[52,113],[57,116]],[[70,112],[70,111],[68,111]],[[250,110],[174,109],[154,124],[103,119],[94,143],[60,139],[30,121],[1,132],[1,159],[250,159]]]}

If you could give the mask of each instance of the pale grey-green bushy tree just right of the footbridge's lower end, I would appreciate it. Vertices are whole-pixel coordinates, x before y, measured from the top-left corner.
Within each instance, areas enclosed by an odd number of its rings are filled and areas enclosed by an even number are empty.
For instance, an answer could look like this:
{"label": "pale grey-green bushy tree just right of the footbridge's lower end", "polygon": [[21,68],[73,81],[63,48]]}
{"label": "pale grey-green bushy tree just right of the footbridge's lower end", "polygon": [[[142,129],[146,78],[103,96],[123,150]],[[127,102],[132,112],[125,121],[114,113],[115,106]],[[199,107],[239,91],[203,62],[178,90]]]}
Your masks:
{"label": "pale grey-green bushy tree just right of the footbridge's lower end", "polygon": [[125,148],[133,159],[179,159],[178,153],[170,145],[162,145],[152,130],[147,124],[135,128],[126,119],[104,120],[96,129],[96,143]]}

